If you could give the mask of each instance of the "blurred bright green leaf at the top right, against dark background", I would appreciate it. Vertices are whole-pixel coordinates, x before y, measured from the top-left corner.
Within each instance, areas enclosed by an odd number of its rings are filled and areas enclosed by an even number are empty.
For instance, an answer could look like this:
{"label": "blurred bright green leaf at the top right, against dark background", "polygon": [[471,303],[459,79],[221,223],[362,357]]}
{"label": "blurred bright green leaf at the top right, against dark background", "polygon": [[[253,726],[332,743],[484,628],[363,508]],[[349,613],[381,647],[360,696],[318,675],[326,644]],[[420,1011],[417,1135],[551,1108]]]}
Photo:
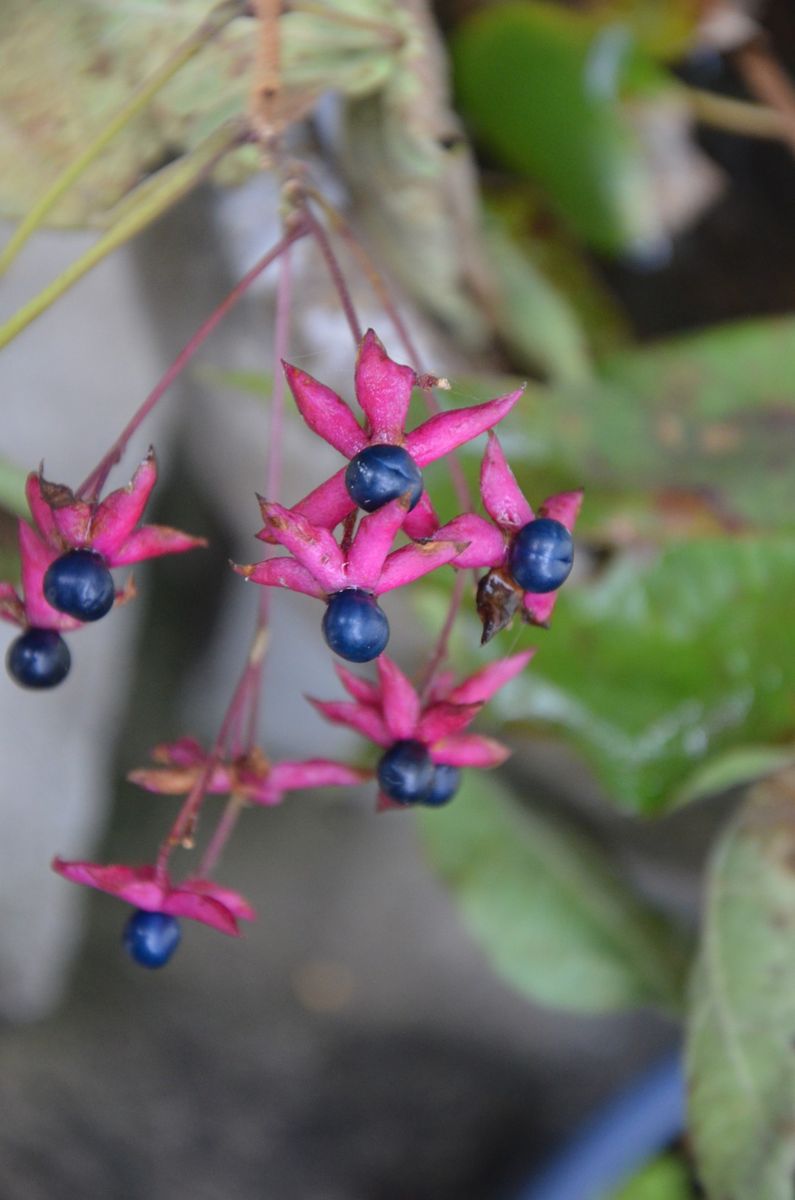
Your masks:
{"label": "blurred bright green leaf at the top right, against dark background", "polygon": [[461,110],[502,162],[537,180],[598,250],[651,250],[663,230],[639,140],[620,104],[653,76],[623,22],[526,0],[464,22],[453,40]]}

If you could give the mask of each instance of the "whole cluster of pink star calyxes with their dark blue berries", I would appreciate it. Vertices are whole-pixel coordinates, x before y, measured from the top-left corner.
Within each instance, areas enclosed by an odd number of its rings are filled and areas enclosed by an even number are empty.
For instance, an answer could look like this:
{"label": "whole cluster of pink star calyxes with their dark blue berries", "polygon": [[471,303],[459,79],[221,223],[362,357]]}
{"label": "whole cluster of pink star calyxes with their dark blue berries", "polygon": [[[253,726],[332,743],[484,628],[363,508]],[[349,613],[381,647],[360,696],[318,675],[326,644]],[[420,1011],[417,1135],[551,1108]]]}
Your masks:
{"label": "whole cluster of pink star calyxes with their dark blue berries", "polygon": [[[383,652],[389,623],[378,598],[443,565],[485,569],[477,588],[483,641],[508,625],[516,612],[546,624],[556,590],[572,569],[572,529],[581,492],[550,497],[536,516],[504,458],[494,426],[514,407],[520,391],[465,409],[437,413],[406,432],[412,390],[426,380],[394,362],[372,331],[359,347],[355,395],[364,424],[334,391],[285,364],[287,382],[310,428],[341,451],[345,468],[292,508],[261,498],[261,540],[287,553],[237,566],[245,580],[289,588],[325,604],[322,630],[340,658],[377,660],[377,680],[337,665],[347,701],[312,700],[324,718],[355,730],[381,750],[375,776],[377,808],[423,804],[440,808],[455,794],[462,768],[495,767],[508,750],[492,738],[466,732],[495,692],[514,678],[533,652],[498,659],[464,682],[432,671],[422,692]],[[462,514],[442,523],[423,482],[422,468],[482,434],[489,444],[480,472],[488,516]],[[7,666],[24,686],[49,688],[68,671],[61,632],[104,616],[116,593],[109,568],[202,545],[157,526],[138,527],[154,486],[154,456],[142,463],[127,488],[94,503],[41,475],[28,481],[34,520],[19,526],[23,598],[0,584],[0,616],[23,626]],[[335,530],[341,528],[337,540]],[[393,548],[399,534],[406,544]],[[155,764],[131,773],[151,792],[228,794],[238,805],[279,804],[298,788],[349,786],[373,772],[325,758],[271,762],[261,750],[225,757],[191,738],[154,751]],[[238,893],[209,878],[179,884],[168,875],[168,853],[154,865],[132,868],[64,862],[54,869],[78,883],[109,892],[135,905],[124,943],[135,961],[160,967],[180,941],[180,917],[238,934],[239,919],[253,912]]]}

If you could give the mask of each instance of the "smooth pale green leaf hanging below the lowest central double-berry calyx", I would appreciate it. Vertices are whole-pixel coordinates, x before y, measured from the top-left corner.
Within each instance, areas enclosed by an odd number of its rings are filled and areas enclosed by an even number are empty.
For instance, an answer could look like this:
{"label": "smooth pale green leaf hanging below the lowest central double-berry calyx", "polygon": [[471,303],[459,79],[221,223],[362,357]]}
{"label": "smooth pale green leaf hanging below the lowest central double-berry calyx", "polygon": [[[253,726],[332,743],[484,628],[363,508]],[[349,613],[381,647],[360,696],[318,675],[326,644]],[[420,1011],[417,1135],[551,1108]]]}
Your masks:
{"label": "smooth pale green leaf hanging below the lowest central double-berry calyx", "polygon": [[578,1012],[677,1006],[683,955],[669,928],[599,852],[516,805],[494,774],[465,773],[420,830],[468,931],[518,991]]}

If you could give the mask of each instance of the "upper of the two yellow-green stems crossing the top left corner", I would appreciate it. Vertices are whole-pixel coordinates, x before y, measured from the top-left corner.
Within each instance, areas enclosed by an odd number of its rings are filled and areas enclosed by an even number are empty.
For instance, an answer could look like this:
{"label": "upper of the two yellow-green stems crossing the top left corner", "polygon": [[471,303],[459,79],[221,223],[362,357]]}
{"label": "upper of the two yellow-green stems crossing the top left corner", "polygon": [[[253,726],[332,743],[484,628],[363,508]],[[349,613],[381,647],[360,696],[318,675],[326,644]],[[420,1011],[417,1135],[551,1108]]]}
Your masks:
{"label": "upper of the two yellow-green stems crossing the top left corner", "polygon": [[14,229],[7,245],[0,253],[0,275],[8,270],[12,262],[25,245],[28,239],[38,229],[52,209],[88,170],[91,163],[102,154],[104,148],[115,138],[116,133],[127,125],[138,113],[149,104],[150,100],[157,95],[169,79],[180,71],[186,62],[207,46],[216,35],[244,11],[241,0],[221,0],[207,16],[197,30],[177,47],[173,54],[155,71],[148,79],[144,79],[135,89],[127,103],[119,109],[115,116],[97,133],[92,142],[89,142],[73,162],[66,167],[52,186],[34,204],[32,209],[23,217]]}

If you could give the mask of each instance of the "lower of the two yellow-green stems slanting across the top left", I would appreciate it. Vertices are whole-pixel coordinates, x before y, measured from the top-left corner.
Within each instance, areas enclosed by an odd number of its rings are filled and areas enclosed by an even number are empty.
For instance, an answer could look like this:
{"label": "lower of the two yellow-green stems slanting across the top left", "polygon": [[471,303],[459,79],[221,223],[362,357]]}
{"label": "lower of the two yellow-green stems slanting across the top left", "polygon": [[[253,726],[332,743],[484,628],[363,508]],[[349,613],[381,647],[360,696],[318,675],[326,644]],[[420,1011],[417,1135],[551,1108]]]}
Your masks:
{"label": "lower of the two yellow-green stems slanting across the top left", "polygon": [[239,121],[221,126],[195,150],[145,180],[121,203],[121,216],[84,254],[71,263],[38,295],[23,305],[13,317],[0,325],[0,349],[36,317],[41,317],[65,292],[82,280],[103,258],[124,246],[157,217],[172,209],[190,192],[245,136]]}

